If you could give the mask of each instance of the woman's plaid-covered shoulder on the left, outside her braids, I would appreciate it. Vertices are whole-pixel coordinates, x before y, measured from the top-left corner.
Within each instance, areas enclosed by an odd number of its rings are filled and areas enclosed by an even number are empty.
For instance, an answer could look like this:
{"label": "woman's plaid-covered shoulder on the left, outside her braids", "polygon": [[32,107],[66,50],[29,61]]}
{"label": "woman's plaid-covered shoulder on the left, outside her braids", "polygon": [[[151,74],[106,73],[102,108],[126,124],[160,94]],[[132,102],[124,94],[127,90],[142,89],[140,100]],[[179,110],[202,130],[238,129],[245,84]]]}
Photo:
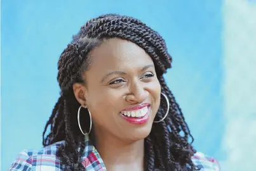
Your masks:
{"label": "woman's plaid-covered shoulder on the left, outside her braids", "polygon": [[64,141],[60,141],[38,151],[21,151],[16,160],[11,164],[9,171],[31,171],[31,170],[62,170],[60,158],[57,151]]}

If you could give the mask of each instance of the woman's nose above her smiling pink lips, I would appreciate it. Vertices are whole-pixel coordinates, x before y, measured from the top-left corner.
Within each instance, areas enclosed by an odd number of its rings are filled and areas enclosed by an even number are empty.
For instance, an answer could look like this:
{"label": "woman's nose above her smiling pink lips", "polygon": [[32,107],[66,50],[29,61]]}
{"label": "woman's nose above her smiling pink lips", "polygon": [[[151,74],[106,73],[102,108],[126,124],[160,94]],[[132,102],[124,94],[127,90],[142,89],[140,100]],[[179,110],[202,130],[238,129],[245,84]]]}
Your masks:
{"label": "woman's nose above her smiling pink lips", "polygon": [[126,95],[126,101],[131,104],[141,103],[145,101],[148,96],[148,92],[140,82],[133,82],[129,87],[129,92],[130,93]]}

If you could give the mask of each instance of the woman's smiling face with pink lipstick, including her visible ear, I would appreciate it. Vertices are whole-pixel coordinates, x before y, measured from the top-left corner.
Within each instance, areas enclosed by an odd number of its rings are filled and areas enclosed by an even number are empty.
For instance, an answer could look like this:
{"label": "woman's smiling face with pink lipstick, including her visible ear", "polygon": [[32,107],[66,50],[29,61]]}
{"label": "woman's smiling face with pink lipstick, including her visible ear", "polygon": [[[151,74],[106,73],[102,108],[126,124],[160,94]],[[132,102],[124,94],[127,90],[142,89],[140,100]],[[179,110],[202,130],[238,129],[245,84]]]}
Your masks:
{"label": "woman's smiling face with pink lipstick, including her visible ear", "polygon": [[90,110],[95,134],[125,141],[147,137],[161,94],[151,57],[137,44],[115,38],[93,49],[90,58],[86,86],[76,84],[74,92]]}

